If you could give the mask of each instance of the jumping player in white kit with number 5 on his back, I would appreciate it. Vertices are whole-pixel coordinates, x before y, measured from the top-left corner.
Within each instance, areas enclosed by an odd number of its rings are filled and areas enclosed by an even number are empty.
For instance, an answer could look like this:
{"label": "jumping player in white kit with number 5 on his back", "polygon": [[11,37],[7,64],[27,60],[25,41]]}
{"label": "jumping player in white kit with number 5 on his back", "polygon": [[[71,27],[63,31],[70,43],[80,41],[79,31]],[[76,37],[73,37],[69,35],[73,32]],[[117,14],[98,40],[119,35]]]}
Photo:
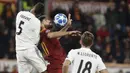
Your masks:
{"label": "jumping player in white kit with number 5 on his back", "polygon": [[37,3],[32,10],[20,11],[16,16],[16,56],[18,73],[46,73],[46,63],[37,49],[40,36],[40,20],[37,16],[43,14],[44,5]]}

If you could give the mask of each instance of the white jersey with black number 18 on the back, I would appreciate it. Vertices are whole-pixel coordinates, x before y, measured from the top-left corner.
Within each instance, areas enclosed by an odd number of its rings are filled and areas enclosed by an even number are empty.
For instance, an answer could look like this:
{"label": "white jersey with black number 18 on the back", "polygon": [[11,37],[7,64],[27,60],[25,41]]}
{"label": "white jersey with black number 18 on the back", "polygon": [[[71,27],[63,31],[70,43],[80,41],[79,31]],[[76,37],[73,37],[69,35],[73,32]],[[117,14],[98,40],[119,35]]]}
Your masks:
{"label": "white jersey with black number 18 on the back", "polygon": [[66,60],[71,61],[71,73],[95,73],[106,69],[100,56],[89,48],[71,50]]}

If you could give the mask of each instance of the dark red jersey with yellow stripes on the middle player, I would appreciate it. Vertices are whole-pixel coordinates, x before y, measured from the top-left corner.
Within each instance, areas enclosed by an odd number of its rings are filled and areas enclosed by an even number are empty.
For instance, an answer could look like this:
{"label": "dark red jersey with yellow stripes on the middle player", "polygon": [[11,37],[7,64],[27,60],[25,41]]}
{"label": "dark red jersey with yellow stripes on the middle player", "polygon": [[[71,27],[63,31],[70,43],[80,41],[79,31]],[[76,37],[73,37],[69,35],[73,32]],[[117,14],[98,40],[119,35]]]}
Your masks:
{"label": "dark red jersey with yellow stripes on the middle player", "polygon": [[41,31],[41,46],[44,50],[44,58],[50,62],[49,68],[62,68],[66,54],[57,38],[48,38],[50,30]]}

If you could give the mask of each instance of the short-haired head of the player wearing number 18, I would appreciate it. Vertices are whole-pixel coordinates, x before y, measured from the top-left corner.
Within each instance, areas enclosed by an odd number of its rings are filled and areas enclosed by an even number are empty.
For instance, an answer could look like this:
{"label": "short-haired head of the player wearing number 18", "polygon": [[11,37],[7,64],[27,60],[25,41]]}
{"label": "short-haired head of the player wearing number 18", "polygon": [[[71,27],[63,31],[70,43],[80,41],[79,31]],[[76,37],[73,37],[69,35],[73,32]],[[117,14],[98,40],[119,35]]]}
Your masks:
{"label": "short-haired head of the player wearing number 18", "polygon": [[84,47],[91,47],[93,44],[93,41],[94,41],[94,35],[91,32],[86,31],[81,36],[80,44]]}

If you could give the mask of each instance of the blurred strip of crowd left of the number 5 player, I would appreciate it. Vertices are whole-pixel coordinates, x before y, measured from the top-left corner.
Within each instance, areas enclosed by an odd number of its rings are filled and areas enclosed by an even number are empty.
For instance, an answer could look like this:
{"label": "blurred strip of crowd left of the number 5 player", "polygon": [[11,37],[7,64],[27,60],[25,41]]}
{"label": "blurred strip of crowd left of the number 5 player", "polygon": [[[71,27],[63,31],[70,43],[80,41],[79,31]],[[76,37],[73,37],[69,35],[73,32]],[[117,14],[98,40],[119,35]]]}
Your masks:
{"label": "blurred strip of crowd left of the number 5 player", "polygon": [[[0,58],[15,58],[15,9],[13,4],[0,4]],[[14,10],[13,10],[14,9]]]}

